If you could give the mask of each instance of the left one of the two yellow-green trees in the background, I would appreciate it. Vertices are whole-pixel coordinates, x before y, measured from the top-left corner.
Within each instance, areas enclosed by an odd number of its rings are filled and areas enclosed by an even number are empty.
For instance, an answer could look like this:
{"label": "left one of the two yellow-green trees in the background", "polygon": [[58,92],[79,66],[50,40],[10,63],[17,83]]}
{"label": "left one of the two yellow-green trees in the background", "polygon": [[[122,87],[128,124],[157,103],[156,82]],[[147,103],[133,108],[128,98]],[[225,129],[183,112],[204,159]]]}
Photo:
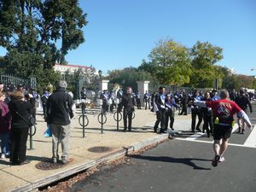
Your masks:
{"label": "left one of the two yellow-green trees in the background", "polygon": [[189,83],[189,49],[183,45],[170,39],[160,40],[148,58],[149,62],[143,61],[139,68],[151,73],[160,84]]}

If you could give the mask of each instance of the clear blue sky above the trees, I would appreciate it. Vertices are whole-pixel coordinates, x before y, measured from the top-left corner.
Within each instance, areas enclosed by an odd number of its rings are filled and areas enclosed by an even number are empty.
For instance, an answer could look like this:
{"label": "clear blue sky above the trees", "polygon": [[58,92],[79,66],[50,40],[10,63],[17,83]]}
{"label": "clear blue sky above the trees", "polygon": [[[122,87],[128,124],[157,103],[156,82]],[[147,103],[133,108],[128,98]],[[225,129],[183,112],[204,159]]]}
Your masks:
{"label": "clear blue sky above the trees", "polygon": [[160,39],[171,38],[188,48],[197,41],[219,46],[224,59],[218,65],[256,75],[254,0],[80,0],[79,5],[88,20],[85,42],[68,52],[68,64],[103,73],[138,67]]}

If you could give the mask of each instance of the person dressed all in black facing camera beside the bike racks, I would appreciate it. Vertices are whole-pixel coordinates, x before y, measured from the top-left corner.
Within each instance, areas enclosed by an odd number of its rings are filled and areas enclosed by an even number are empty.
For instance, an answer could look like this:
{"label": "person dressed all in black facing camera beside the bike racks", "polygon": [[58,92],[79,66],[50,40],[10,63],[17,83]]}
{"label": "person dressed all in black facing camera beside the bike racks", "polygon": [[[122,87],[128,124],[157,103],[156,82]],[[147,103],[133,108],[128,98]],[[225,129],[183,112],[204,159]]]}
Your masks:
{"label": "person dressed all in black facing camera beside the bike racks", "polygon": [[[123,119],[124,119],[124,131],[131,131],[131,121],[132,121],[132,113],[134,112],[134,96],[132,94],[131,87],[126,88],[125,94],[122,96],[122,107],[124,107],[123,111]],[[128,118],[128,126],[127,126],[127,118]]]}

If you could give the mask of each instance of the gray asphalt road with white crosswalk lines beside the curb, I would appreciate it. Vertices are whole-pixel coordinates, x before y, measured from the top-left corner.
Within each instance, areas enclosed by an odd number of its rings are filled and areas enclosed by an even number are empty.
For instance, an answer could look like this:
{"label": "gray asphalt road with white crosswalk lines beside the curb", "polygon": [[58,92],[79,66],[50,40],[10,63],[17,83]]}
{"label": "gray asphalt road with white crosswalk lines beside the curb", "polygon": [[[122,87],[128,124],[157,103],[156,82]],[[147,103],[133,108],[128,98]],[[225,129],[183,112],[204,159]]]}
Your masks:
{"label": "gray asphalt road with white crosswalk lines beside the curb", "polygon": [[[256,124],[256,105],[249,114]],[[75,183],[72,191],[111,192],[255,192],[256,127],[230,139],[225,161],[212,167],[212,138],[183,132],[143,154],[131,155],[131,164],[105,166]]]}

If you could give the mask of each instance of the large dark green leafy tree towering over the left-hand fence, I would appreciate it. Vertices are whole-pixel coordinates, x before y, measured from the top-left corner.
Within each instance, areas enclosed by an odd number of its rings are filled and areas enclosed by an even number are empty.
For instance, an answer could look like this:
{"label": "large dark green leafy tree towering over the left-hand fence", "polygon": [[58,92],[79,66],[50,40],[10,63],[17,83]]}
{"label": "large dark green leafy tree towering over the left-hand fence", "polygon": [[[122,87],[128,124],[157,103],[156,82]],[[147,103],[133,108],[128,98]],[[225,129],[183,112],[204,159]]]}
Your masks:
{"label": "large dark green leafy tree towering over the left-hand fence", "polygon": [[[68,50],[84,42],[87,23],[78,0],[0,0],[0,45],[6,48],[6,71],[37,77],[66,63]],[[51,75],[54,76],[54,75]]]}

